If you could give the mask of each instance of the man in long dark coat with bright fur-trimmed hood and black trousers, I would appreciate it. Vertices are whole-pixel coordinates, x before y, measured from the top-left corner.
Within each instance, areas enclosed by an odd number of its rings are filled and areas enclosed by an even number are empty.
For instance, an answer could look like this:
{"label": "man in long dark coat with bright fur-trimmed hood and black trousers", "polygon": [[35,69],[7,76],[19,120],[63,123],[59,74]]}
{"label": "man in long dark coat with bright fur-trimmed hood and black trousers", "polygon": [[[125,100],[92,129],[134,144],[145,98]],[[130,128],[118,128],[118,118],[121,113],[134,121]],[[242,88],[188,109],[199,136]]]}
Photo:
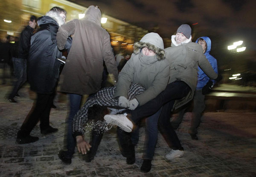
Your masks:
{"label": "man in long dark coat with bright fur-trimmed hood and black trousers", "polygon": [[38,137],[30,136],[30,132],[40,120],[41,134],[58,131],[49,125],[49,114],[59,77],[61,58],[58,50],[56,33],[59,26],[65,23],[66,11],[53,7],[45,16],[38,18],[40,29],[31,37],[31,47],[28,58],[28,81],[30,89],[37,93],[37,99],[30,113],[17,133],[17,144],[33,143]]}

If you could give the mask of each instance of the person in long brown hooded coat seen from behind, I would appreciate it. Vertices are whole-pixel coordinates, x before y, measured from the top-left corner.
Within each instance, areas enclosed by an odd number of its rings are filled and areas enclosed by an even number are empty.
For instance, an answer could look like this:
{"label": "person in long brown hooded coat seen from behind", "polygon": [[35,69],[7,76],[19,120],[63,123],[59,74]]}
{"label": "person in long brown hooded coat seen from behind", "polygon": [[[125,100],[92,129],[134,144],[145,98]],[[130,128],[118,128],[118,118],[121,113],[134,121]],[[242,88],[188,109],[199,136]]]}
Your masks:
{"label": "person in long brown hooded coat seen from behind", "polygon": [[[83,134],[74,134],[73,118],[80,109],[82,95],[99,91],[102,83],[103,61],[107,66],[111,83],[118,79],[116,61],[111,49],[110,36],[101,27],[101,11],[98,6],[90,6],[84,18],[74,19],[58,29],[57,43],[60,50],[65,49],[67,38],[72,35],[73,42],[60,77],[60,91],[68,93],[70,113],[67,127],[67,149],[59,151],[59,158],[67,164],[72,161],[76,143],[90,149]],[[72,84],[71,84],[72,83]],[[78,148],[79,152],[81,149]],[[84,149],[82,149],[83,151]],[[84,151],[83,151],[84,153]]]}

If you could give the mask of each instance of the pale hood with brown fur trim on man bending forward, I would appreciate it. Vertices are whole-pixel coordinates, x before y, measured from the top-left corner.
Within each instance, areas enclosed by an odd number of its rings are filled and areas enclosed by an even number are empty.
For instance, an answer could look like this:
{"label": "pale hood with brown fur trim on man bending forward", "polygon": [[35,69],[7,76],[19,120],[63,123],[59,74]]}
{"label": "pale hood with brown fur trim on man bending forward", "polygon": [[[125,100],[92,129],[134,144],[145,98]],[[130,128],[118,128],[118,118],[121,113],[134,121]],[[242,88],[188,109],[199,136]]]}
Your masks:
{"label": "pale hood with brown fur trim on man bending forward", "polygon": [[139,54],[144,47],[148,50],[154,51],[157,55],[157,60],[163,60],[165,58],[165,51],[163,46],[163,39],[157,33],[145,34],[140,42],[134,43],[134,54]]}

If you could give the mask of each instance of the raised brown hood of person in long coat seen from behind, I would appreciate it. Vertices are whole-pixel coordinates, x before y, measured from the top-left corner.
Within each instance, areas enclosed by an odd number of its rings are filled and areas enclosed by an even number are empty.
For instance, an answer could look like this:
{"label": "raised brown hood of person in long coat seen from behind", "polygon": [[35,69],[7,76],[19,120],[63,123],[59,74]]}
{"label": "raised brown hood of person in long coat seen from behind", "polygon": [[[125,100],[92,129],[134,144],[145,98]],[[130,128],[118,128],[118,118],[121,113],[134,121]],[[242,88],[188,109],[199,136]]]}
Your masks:
{"label": "raised brown hood of person in long coat seen from behind", "polygon": [[86,11],[84,11],[84,19],[91,20],[97,23],[99,26],[101,25],[101,11],[98,6],[89,6]]}

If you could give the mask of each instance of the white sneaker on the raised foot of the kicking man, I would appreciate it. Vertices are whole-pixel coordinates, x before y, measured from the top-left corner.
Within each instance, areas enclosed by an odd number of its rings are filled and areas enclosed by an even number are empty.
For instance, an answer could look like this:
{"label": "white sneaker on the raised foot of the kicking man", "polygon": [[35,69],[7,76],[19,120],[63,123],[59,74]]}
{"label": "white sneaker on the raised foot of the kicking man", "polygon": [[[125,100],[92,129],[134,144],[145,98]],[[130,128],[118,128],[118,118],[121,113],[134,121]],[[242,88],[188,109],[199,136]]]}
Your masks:
{"label": "white sneaker on the raised foot of the kicking man", "polygon": [[[127,114],[126,114],[127,115]],[[133,128],[133,123],[124,114],[110,115],[106,114],[104,116],[106,123],[111,123],[113,125],[119,126],[123,131],[131,132]]]}

